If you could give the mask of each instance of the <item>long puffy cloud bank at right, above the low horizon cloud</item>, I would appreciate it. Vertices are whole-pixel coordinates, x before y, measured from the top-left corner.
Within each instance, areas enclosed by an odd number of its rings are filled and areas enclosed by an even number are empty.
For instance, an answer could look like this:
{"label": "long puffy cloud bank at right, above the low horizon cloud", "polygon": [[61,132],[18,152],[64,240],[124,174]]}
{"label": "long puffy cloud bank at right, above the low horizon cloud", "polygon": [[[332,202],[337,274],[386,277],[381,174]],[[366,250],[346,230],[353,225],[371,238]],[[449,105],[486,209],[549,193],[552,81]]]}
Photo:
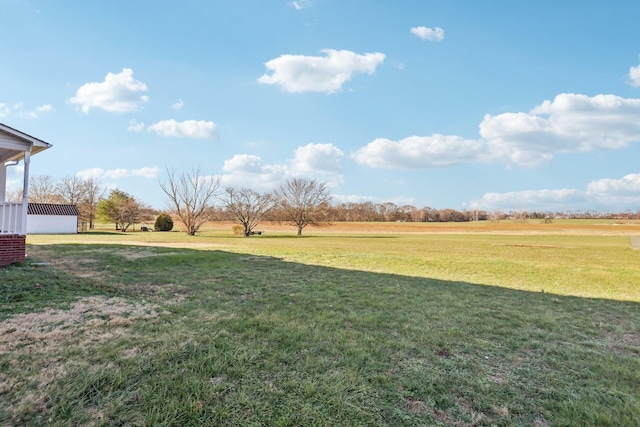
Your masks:
{"label": "long puffy cloud bank at right, above the low horizon cloud", "polygon": [[480,138],[378,138],[352,154],[374,168],[418,169],[470,162],[536,167],[554,154],[615,150],[640,142],[640,99],[563,93],[528,113],[486,115]]}

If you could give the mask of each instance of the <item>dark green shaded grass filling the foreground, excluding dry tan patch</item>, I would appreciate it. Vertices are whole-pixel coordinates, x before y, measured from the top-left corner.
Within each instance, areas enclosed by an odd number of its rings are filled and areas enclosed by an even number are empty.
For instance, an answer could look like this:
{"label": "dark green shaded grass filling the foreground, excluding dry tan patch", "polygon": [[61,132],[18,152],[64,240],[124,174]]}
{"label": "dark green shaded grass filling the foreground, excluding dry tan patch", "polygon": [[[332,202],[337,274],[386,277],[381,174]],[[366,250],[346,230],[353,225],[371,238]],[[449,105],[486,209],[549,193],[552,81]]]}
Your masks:
{"label": "dark green shaded grass filling the foreground, excluding dry tan patch", "polygon": [[[107,305],[118,297],[157,316],[107,316],[98,333],[86,315],[72,324],[75,338],[50,338],[55,351],[38,347],[34,334],[0,353],[0,383],[14,384],[0,388],[0,424],[640,419],[637,303],[218,250],[70,244],[31,252],[34,261],[0,270],[16,278],[3,285],[3,311],[17,313],[20,299],[19,311],[35,312],[103,295]],[[43,363],[57,375],[35,374]]]}

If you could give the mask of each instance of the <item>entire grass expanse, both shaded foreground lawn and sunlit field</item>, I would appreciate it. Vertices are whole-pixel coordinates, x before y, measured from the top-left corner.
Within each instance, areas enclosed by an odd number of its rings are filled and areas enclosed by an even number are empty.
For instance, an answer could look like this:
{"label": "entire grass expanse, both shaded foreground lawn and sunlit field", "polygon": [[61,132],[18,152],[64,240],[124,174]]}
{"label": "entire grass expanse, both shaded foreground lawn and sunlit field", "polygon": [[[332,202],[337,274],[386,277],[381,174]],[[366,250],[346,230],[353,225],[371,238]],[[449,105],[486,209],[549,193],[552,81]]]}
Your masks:
{"label": "entire grass expanse, both shaded foreground lawn and sunlit field", "polygon": [[636,426],[638,224],[29,236],[0,425]]}

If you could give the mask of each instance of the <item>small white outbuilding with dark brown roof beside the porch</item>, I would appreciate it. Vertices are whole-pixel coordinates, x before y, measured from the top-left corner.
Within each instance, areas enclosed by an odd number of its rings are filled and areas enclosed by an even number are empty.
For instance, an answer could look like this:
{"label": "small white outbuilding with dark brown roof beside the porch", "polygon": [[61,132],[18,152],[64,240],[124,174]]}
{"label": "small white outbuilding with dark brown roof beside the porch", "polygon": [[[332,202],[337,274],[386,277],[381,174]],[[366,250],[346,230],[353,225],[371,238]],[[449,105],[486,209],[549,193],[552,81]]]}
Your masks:
{"label": "small white outbuilding with dark brown roof beside the porch", "polygon": [[27,234],[76,234],[79,215],[76,205],[29,203]]}

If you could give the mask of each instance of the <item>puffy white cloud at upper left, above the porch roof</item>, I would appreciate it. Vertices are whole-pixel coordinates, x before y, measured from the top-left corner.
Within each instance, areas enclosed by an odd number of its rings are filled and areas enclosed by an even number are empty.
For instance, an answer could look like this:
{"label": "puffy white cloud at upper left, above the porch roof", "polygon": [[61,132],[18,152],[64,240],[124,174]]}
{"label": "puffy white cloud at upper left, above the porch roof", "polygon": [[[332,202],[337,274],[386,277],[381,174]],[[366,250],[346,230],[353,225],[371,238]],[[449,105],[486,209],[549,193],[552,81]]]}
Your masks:
{"label": "puffy white cloud at upper left, above the porch roof", "polygon": [[133,78],[131,68],[123,68],[118,74],[108,73],[103,82],[85,83],[76,91],[76,96],[68,100],[80,105],[83,113],[92,108],[101,108],[110,113],[129,113],[138,110],[149,100],[141,95],[147,85]]}

